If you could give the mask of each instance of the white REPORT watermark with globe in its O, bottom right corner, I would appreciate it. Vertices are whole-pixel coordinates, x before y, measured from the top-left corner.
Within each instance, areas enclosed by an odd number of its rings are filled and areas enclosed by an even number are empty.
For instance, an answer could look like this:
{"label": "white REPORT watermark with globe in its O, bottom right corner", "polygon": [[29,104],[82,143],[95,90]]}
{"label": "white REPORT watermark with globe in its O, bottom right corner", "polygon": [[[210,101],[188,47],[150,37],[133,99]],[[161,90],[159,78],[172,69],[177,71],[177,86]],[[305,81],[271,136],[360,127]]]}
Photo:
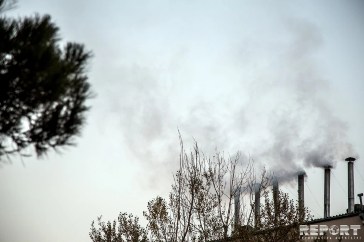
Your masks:
{"label": "white REPORT watermark with globe in its O, bottom right corner", "polygon": [[356,239],[360,240],[358,230],[360,225],[300,225],[300,237],[304,239],[315,239],[324,237],[326,239]]}

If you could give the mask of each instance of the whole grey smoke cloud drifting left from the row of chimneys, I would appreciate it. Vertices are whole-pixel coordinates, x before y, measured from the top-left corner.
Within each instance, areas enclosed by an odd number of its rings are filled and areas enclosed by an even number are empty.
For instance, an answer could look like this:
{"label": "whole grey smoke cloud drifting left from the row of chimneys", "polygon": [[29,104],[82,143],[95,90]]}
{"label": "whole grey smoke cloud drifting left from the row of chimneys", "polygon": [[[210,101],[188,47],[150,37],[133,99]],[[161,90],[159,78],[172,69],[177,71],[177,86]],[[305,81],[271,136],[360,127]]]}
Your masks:
{"label": "whole grey smoke cloud drifting left from the row of chimneys", "polygon": [[[244,72],[251,79],[240,85],[224,79],[212,87],[197,87],[196,79],[189,78],[198,68],[186,62],[192,50],[185,47],[167,70],[137,64],[120,67],[115,74],[120,83],[109,91],[114,97],[111,106],[127,147],[151,178],[150,188],[177,169],[177,127],[187,141],[185,147],[192,145],[193,136],[205,155],[215,146],[233,154],[239,149],[244,159],[249,151],[256,167],[267,164],[280,183],[295,181],[297,172],[306,168],[335,167],[345,156],[359,157],[347,142],[347,122],[334,115],[327,100],[330,82],[316,60],[324,45],[320,29],[301,19],[283,22],[290,39],[268,44],[265,58],[239,61],[246,57],[241,53],[254,56],[254,46],[242,51],[248,48],[245,40],[236,46],[238,54],[229,58],[244,66],[235,71],[255,68],[253,74]],[[260,61],[268,64],[257,67]],[[222,67],[203,70],[202,78],[223,71]],[[233,91],[224,92],[228,85]]]}

